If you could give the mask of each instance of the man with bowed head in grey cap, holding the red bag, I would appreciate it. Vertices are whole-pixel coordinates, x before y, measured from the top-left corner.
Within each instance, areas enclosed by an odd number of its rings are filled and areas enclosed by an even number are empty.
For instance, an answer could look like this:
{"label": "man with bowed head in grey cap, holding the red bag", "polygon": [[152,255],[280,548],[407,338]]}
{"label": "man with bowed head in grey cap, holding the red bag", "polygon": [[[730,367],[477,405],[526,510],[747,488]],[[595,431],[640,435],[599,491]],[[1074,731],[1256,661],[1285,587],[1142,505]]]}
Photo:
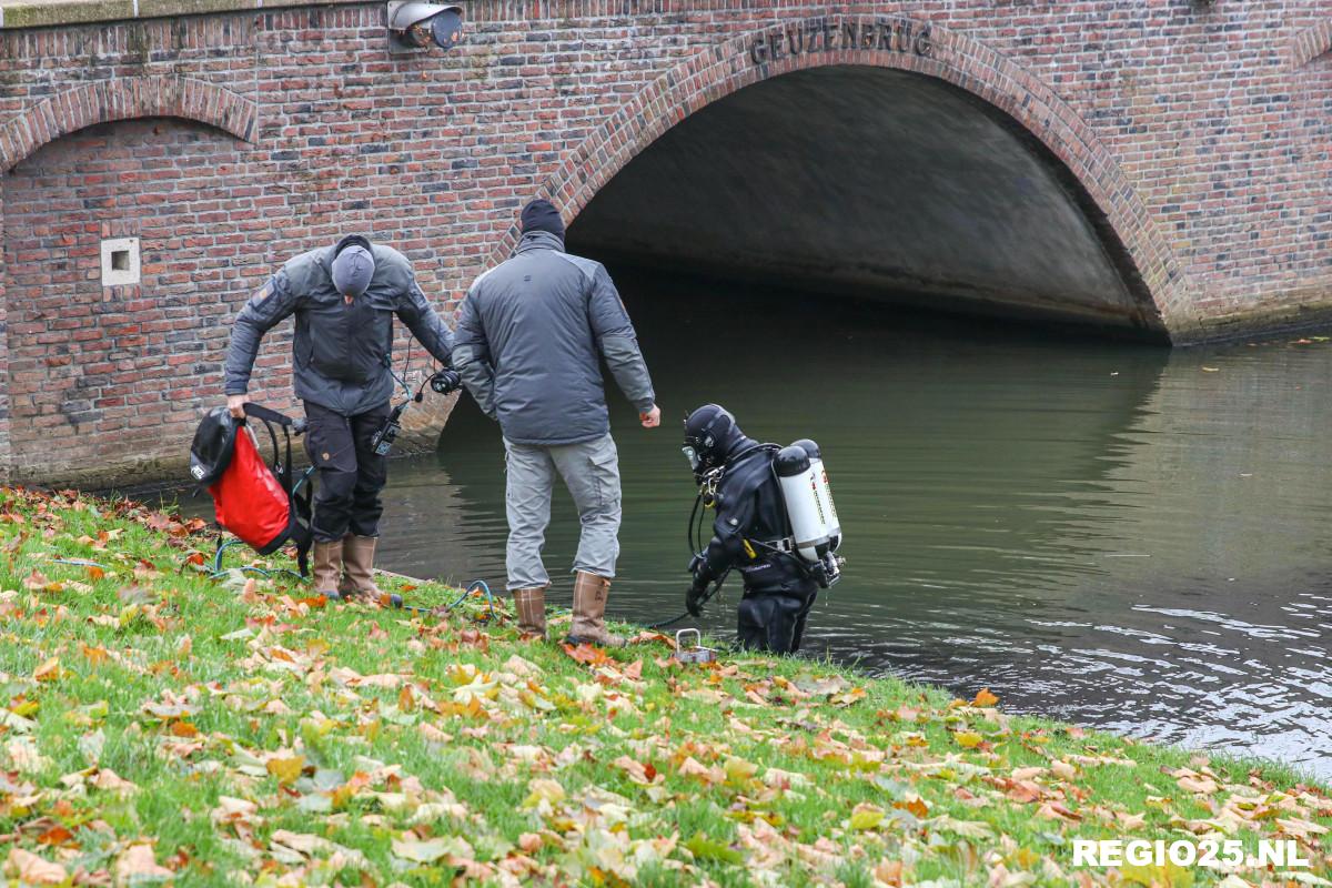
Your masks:
{"label": "man with bowed head in grey cap, holding the red bag", "polygon": [[318,469],[314,494],[314,588],[376,595],[374,549],[388,462],[370,439],[393,395],[393,316],[437,361],[453,334],[417,286],[412,262],[358,234],[286,262],[241,309],[226,351],[226,406],[244,415],[260,339],[296,314],[292,373],[305,402],[305,447]]}

